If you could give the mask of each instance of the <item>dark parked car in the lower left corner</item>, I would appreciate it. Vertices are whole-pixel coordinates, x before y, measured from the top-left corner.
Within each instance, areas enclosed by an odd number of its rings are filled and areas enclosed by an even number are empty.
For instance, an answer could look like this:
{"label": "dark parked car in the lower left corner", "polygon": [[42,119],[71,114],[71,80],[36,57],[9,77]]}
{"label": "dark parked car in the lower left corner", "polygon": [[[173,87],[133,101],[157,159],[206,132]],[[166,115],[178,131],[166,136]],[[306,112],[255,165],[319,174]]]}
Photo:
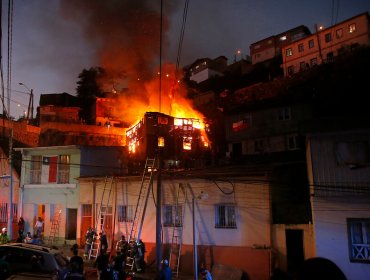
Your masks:
{"label": "dark parked car in the lower left corner", "polygon": [[68,260],[62,252],[43,245],[26,243],[0,245],[0,260],[2,277],[19,273],[40,273],[51,279],[62,280],[68,271]]}

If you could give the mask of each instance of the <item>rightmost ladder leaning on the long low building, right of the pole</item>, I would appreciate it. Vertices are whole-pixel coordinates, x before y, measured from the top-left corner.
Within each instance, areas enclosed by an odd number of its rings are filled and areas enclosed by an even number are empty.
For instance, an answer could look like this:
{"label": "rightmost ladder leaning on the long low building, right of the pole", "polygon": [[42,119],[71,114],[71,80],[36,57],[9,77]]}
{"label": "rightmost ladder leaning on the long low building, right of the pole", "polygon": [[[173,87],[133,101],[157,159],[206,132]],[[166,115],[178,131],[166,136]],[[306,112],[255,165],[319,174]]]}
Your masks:
{"label": "rightmost ladder leaning on the long low building, right of the pole", "polygon": [[176,204],[175,204],[175,221],[172,231],[172,241],[170,248],[169,265],[176,275],[179,276],[180,268],[180,257],[181,257],[181,247],[182,247],[182,231],[185,213],[185,203],[186,203],[186,188],[183,184],[179,184],[177,188]]}

